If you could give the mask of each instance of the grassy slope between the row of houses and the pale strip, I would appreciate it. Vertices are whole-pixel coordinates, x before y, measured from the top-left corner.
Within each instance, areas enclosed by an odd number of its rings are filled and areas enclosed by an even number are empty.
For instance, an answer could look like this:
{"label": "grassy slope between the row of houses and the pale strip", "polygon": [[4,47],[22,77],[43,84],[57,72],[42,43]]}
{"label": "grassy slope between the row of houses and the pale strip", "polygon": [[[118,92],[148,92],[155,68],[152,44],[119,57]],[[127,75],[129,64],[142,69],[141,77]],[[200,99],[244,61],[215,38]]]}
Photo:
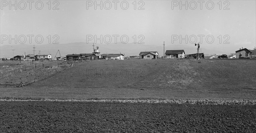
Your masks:
{"label": "grassy slope between the row of houses and the pale strip", "polygon": [[[61,64],[57,67],[57,64]],[[5,63],[5,62],[4,62]],[[1,71],[6,65],[1,62]],[[1,98],[34,99],[255,99],[256,61],[252,59],[127,59],[31,62],[40,79],[22,88],[3,87]],[[42,68],[45,63],[52,69]],[[3,67],[5,66],[5,67]],[[10,65],[9,65],[10,66]],[[18,68],[20,69],[20,68]],[[36,69],[36,70],[35,70]],[[45,76],[47,71],[52,74]],[[46,71],[44,73],[44,71]],[[39,73],[38,72],[38,73]],[[3,77],[3,76],[2,76]],[[29,76],[28,76],[29,77]],[[34,78],[33,75],[30,77]],[[12,82],[34,79],[2,78]],[[16,80],[17,79],[17,80]]]}

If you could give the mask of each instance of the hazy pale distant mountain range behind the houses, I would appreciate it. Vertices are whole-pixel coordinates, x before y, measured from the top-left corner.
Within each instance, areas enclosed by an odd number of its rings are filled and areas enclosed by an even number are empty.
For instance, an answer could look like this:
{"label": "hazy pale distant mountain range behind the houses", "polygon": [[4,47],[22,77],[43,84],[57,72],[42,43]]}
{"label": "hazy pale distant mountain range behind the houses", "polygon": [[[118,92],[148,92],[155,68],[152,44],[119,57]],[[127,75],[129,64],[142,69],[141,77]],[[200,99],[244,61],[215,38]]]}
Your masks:
{"label": "hazy pale distant mountain range behind the houses", "polygon": [[[99,46],[100,54],[125,54],[127,56],[138,56],[141,51],[157,51],[160,56],[163,56],[163,45],[147,45],[147,44],[134,44],[127,43],[123,44],[112,43],[112,44],[95,44],[94,48]],[[185,54],[195,54],[196,47],[192,45],[165,45],[166,50],[179,50],[183,49]],[[28,44],[17,44],[17,45],[1,45],[0,47],[0,58],[13,57],[16,55],[24,54],[34,54],[33,45]],[[61,56],[64,57],[67,54],[89,54],[93,52],[93,43],[86,42],[74,42],[66,44],[44,44],[44,45],[35,45],[35,55],[37,54],[51,54],[52,57],[55,57],[57,51],[60,51]],[[212,50],[207,48],[202,48],[202,53],[206,56],[209,54],[229,54],[227,51]],[[59,54],[56,56],[59,57]]]}

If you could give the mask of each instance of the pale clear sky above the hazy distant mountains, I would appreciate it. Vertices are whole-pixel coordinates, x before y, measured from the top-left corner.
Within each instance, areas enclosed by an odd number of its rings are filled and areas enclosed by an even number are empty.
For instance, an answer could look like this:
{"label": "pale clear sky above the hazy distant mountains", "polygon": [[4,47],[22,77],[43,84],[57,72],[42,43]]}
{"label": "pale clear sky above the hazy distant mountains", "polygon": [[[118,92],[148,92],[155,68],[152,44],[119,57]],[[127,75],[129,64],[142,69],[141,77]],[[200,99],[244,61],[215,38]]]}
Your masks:
{"label": "pale clear sky above the hazy distant mountains", "polygon": [[[15,5],[15,0],[11,3],[1,0],[0,50],[9,51],[5,56],[11,56],[13,51],[4,49],[4,45],[11,45],[15,49],[15,45],[25,44],[52,44],[54,47],[55,43],[88,42],[91,46],[90,43],[95,41],[96,45],[121,42],[120,47],[128,49],[128,45],[134,42],[145,46],[138,47],[137,53],[163,51],[163,42],[166,50],[195,46],[200,42],[202,51],[204,48],[220,50],[225,52],[223,54],[256,46],[255,0],[182,0],[181,3],[180,0],[16,2],[16,6],[10,6]],[[95,7],[96,4],[101,6]]]}

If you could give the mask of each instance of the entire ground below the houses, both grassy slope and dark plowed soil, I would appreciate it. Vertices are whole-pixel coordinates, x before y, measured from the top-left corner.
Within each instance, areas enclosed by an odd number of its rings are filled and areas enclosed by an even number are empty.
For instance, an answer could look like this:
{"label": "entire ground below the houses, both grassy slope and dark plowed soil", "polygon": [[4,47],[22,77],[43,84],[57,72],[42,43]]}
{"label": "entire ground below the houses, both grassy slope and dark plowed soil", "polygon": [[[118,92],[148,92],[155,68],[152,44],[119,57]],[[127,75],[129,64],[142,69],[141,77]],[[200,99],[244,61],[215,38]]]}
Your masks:
{"label": "entire ground below the houses, both grassy slope and dark plowed soil", "polygon": [[[256,131],[255,60],[99,60],[74,62],[73,67],[63,61],[35,62],[36,67],[8,63],[1,62],[1,84],[37,81],[19,88],[1,86],[1,133]],[[44,99],[211,99],[220,105]],[[233,103],[223,104],[226,100]]]}

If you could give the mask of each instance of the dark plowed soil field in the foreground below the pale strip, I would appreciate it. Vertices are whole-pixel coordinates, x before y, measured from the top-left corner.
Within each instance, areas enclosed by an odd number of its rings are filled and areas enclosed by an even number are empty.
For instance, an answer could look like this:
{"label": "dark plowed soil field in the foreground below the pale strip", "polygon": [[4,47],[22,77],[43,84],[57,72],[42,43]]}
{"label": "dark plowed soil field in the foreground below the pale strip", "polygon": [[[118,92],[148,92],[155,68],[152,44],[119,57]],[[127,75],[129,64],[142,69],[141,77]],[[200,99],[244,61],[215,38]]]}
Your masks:
{"label": "dark plowed soil field in the foreground below the pale strip", "polygon": [[0,102],[1,133],[255,133],[256,106]]}

